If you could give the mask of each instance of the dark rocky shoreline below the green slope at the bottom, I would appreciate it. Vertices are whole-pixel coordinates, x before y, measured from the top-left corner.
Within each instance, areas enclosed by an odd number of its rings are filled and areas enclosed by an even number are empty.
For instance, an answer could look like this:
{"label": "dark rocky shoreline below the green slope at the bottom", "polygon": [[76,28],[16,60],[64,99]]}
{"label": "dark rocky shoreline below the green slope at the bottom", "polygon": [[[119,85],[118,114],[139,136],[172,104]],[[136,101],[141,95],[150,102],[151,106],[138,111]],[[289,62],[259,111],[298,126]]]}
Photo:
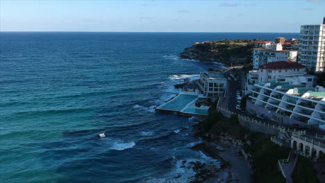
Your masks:
{"label": "dark rocky shoreline below the green slope at the bottom", "polygon": [[[250,182],[250,166],[242,155],[240,142],[227,134],[225,137],[211,137],[203,132],[199,125],[194,125],[194,136],[203,137],[203,143],[192,146],[192,150],[200,150],[202,153],[221,162],[221,166],[211,167],[201,162],[190,162],[193,171],[197,174],[192,183],[235,183]],[[238,169],[239,168],[239,169]]]}

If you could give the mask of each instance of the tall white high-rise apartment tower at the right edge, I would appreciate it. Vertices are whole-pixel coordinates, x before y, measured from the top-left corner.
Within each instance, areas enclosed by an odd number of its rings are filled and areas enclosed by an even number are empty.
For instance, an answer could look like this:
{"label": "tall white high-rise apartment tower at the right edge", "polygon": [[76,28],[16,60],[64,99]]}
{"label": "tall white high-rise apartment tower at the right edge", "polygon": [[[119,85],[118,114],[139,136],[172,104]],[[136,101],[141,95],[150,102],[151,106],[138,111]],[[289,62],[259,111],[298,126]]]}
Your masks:
{"label": "tall white high-rise apartment tower at the right edge", "polygon": [[299,63],[312,71],[325,71],[325,18],[323,24],[301,26]]}

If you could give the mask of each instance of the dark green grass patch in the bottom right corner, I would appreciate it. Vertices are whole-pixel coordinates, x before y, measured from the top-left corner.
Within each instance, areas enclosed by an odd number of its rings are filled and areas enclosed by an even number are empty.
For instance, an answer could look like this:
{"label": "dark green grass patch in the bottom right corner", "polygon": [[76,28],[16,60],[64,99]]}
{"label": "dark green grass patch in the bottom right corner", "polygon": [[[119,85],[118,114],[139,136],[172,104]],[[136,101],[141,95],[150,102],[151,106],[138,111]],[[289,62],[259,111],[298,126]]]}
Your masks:
{"label": "dark green grass patch in the bottom right corner", "polygon": [[294,183],[319,183],[313,163],[300,156],[292,172],[292,180]]}

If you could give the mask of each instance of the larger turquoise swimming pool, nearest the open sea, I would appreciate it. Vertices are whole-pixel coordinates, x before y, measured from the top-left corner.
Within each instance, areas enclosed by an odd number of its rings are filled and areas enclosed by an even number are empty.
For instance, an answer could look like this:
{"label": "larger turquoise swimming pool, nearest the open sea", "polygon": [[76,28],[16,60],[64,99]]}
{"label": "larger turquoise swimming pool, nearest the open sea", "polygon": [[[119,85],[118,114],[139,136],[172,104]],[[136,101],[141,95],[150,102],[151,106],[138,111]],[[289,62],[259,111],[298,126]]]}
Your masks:
{"label": "larger turquoise swimming pool, nearest the open sea", "polygon": [[161,110],[173,110],[173,111],[181,111],[186,105],[192,103],[195,99],[197,99],[198,95],[187,95],[187,94],[179,94],[172,101],[165,103],[157,107]]}

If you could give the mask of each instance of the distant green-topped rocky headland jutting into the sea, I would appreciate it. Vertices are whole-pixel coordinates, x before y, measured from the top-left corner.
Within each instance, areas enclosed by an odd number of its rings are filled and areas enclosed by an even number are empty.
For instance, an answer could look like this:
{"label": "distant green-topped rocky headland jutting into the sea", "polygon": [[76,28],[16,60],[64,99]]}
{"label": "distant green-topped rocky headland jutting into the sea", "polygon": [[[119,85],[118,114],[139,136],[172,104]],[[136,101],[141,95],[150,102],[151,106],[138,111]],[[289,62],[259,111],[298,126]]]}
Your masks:
{"label": "distant green-topped rocky headland jutting into the sea", "polygon": [[247,43],[197,42],[184,49],[180,57],[235,66],[251,63],[251,55],[252,47]]}

